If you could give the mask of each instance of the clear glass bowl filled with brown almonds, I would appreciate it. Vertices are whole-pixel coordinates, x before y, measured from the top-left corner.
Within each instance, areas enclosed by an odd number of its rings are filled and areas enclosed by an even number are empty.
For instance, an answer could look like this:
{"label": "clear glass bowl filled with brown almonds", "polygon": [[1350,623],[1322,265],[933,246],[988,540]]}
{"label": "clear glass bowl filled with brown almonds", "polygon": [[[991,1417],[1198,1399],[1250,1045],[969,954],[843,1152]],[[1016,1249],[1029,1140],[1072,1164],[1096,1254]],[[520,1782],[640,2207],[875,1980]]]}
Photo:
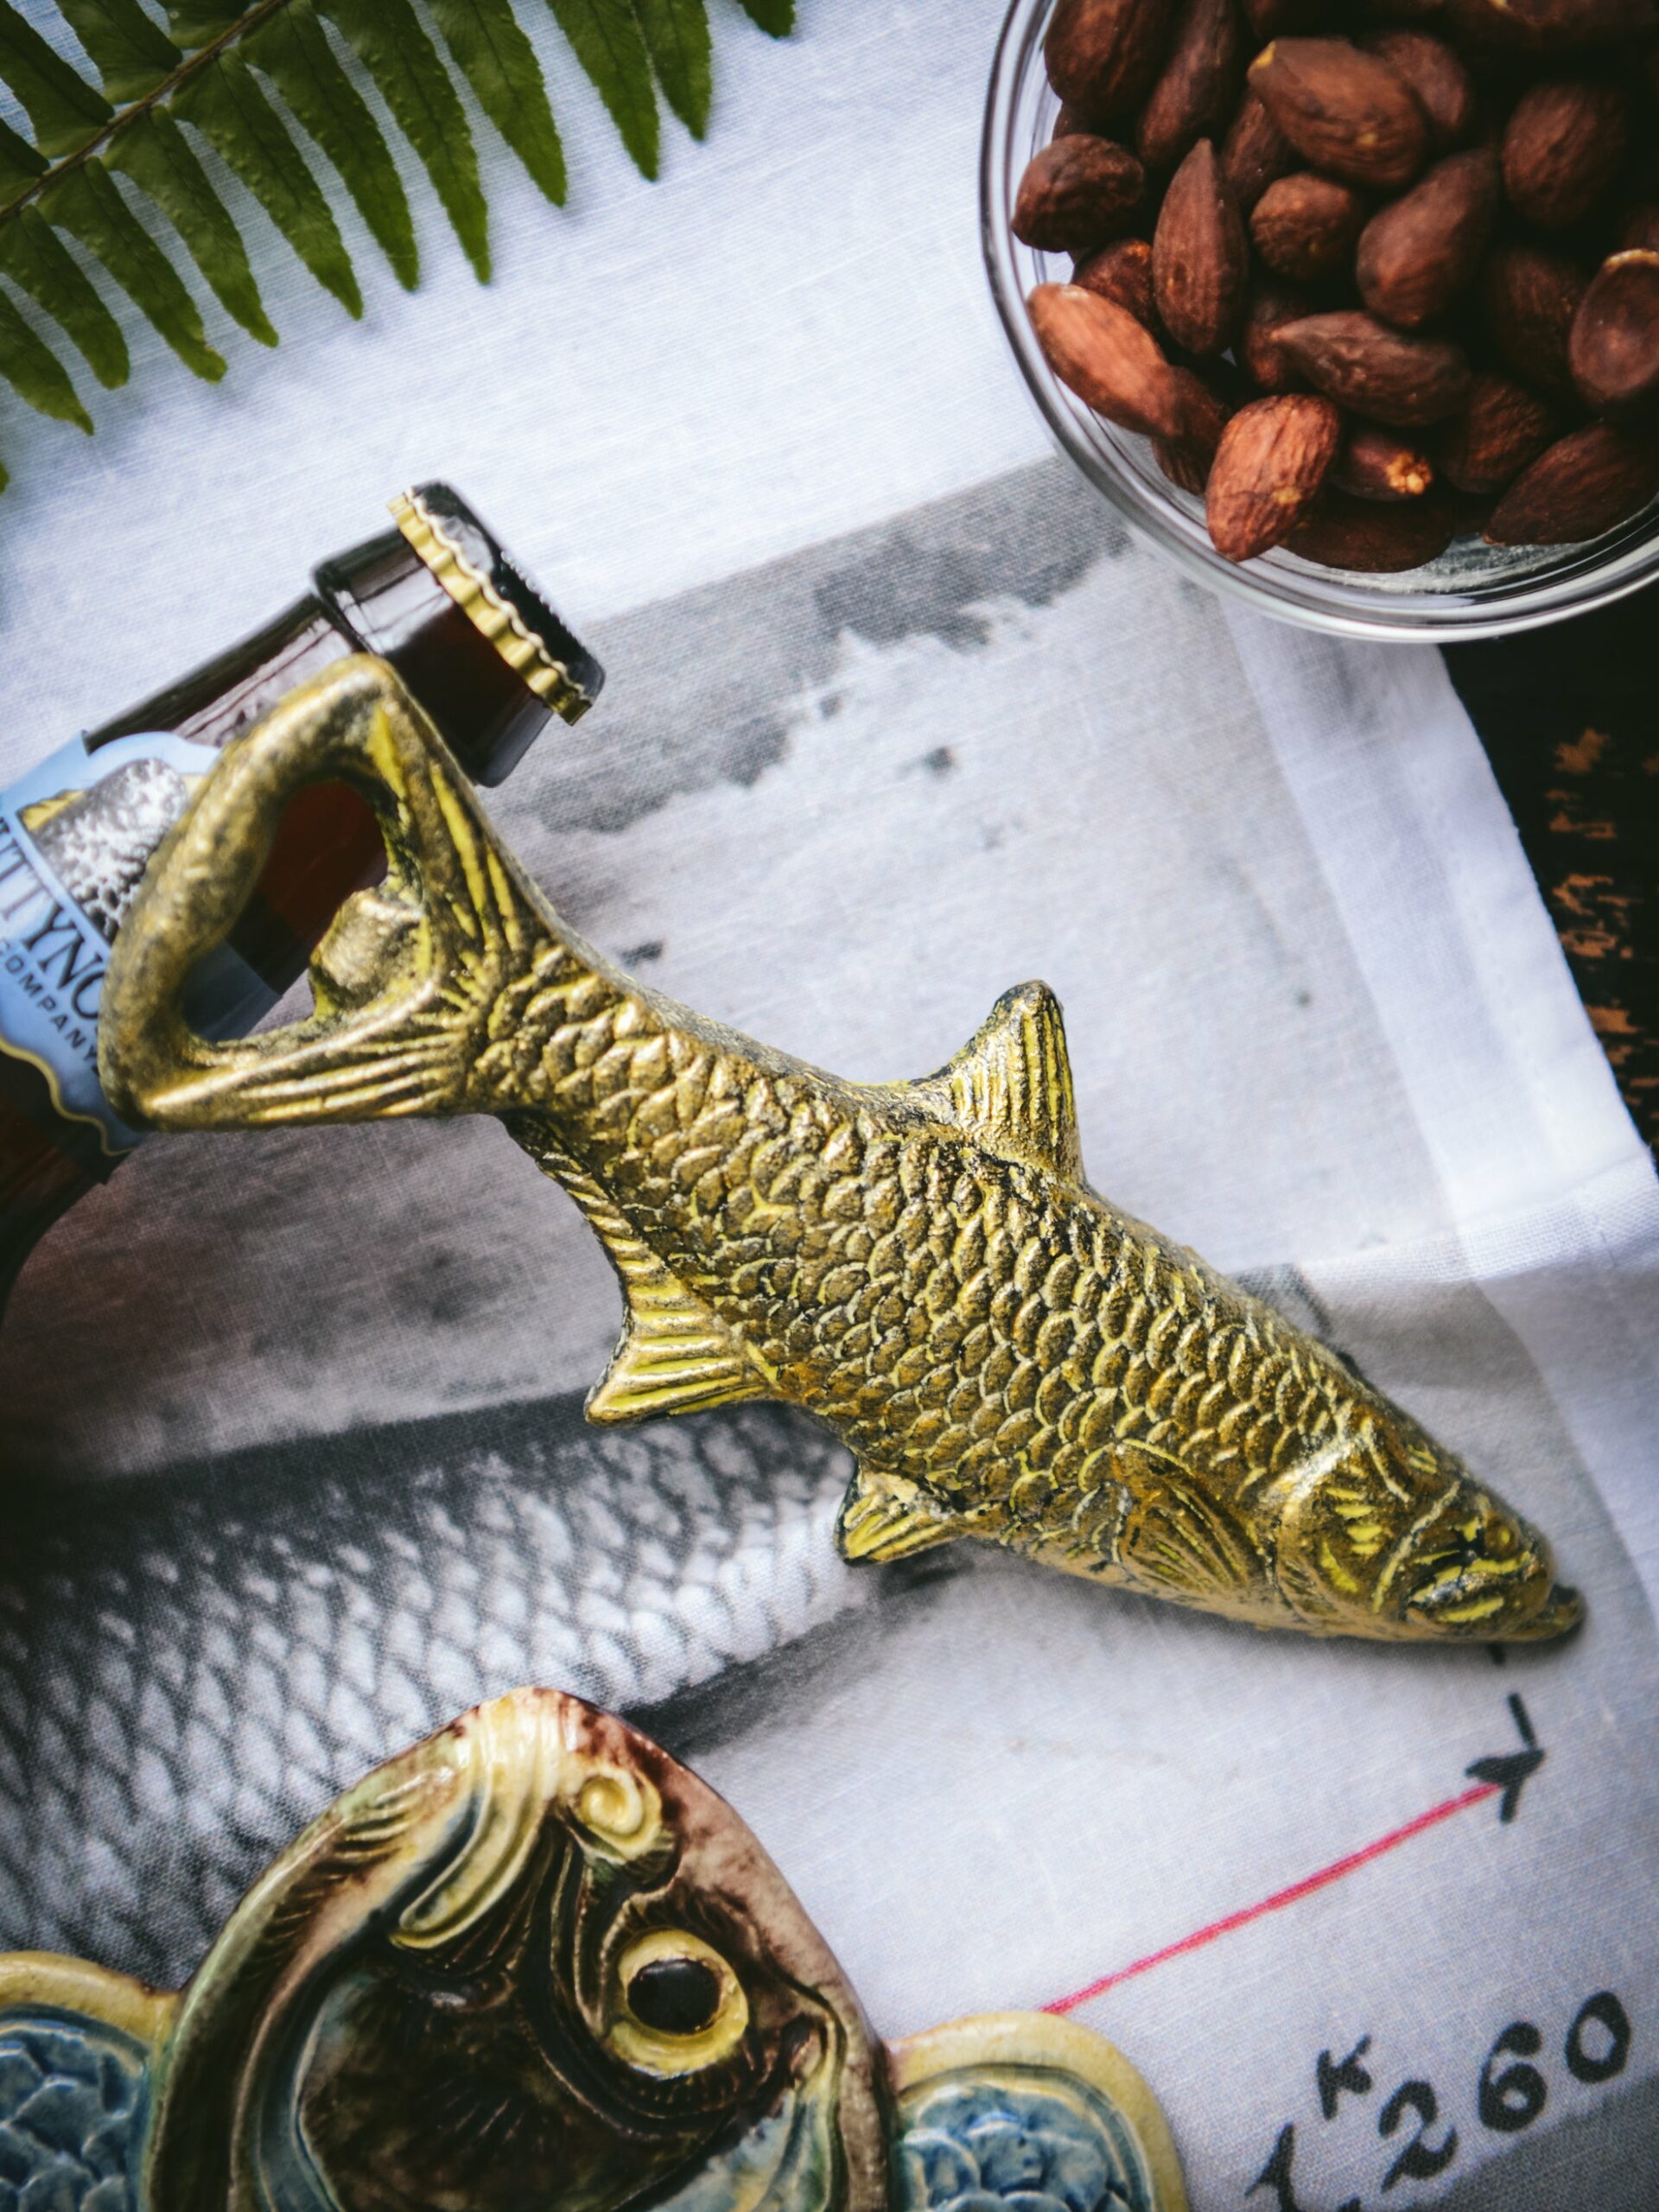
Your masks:
{"label": "clear glass bowl filled with brown almonds", "polygon": [[1212,588],[1444,641],[1659,575],[1659,0],[1013,0],[980,204],[1048,429]]}

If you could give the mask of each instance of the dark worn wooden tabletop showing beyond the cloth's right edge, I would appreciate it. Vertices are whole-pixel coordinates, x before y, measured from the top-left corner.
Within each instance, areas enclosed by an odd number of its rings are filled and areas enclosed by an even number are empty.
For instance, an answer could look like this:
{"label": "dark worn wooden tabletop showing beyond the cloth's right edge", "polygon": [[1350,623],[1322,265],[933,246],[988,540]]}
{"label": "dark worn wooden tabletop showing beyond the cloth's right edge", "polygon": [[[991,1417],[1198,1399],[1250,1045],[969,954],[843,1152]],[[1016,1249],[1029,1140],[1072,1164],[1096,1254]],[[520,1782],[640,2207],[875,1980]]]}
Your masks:
{"label": "dark worn wooden tabletop showing beyond the cloth's right edge", "polygon": [[1659,586],[1449,646],[1584,1006],[1659,1146]]}

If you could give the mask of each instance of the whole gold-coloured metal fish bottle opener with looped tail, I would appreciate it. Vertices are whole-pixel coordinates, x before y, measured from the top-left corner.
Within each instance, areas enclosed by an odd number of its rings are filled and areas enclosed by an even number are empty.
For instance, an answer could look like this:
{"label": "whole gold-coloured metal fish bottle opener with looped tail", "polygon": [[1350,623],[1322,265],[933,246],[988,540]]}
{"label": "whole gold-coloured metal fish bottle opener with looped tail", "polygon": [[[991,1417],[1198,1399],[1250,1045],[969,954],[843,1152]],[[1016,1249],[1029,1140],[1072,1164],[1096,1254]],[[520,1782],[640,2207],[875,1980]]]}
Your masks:
{"label": "whole gold-coloured metal fish bottle opener with looped tail", "polygon": [[[197,1037],[190,969],[330,776],[376,807],[385,883],[319,947],[307,1020]],[[810,1409],[856,1458],[849,1559],[978,1535],[1314,1635],[1582,1615],[1540,1531],[1409,1413],[1088,1188],[1044,984],[920,1082],[754,1044],[560,922],[383,664],[301,686],[204,779],[115,942],[102,1075],[168,1130],[498,1115],[622,1279],[588,1418]]]}

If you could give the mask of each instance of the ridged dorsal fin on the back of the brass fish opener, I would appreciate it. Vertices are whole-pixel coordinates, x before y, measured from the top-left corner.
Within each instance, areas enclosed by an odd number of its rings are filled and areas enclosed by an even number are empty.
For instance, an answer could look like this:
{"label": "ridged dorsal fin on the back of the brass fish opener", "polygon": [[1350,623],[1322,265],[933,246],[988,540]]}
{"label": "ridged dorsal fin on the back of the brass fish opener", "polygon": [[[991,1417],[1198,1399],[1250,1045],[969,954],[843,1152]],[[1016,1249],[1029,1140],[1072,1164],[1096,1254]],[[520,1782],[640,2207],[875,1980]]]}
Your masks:
{"label": "ridged dorsal fin on the back of the brass fish opener", "polygon": [[1035,1159],[1082,1181],[1066,1022],[1046,982],[1004,991],[956,1060],[916,1088],[987,1152]]}

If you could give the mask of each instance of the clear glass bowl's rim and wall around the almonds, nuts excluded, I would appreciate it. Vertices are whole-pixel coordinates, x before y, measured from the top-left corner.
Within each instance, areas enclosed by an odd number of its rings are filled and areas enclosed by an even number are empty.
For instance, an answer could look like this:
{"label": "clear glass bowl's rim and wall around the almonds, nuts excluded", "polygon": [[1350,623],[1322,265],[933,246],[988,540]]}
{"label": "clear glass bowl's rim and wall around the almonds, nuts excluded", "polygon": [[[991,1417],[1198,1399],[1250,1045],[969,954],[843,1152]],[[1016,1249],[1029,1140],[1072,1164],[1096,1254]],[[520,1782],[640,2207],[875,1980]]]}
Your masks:
{"label": "clear glass bowl's rim and wall around the almonds, nuts excluded", "polygon": [[1170,484],[1146,438],[1104,422],[1060,383],[1026,316],[1033,285],[1071,276],[1068,254],[1035,252],[1009,228],[1024,166],[1048,144],[1060,113],[1042,66],[1053,11],[1055,0],[1013,0],[991,64],[980,155],[984,263],[1002,327],[1044,422],[1126,522],[1214,591],[1283,622],[1347,637],[1433,644],[1500,637],[1604,606],[1659,575],[1659,500],[1590,544],[1489,546],[1480,538],[1458,538],[1440,560],[1402,575],[1321,568],[1283,546],[1243,566],[1221,560],[1203,526],[1203,502]]}

